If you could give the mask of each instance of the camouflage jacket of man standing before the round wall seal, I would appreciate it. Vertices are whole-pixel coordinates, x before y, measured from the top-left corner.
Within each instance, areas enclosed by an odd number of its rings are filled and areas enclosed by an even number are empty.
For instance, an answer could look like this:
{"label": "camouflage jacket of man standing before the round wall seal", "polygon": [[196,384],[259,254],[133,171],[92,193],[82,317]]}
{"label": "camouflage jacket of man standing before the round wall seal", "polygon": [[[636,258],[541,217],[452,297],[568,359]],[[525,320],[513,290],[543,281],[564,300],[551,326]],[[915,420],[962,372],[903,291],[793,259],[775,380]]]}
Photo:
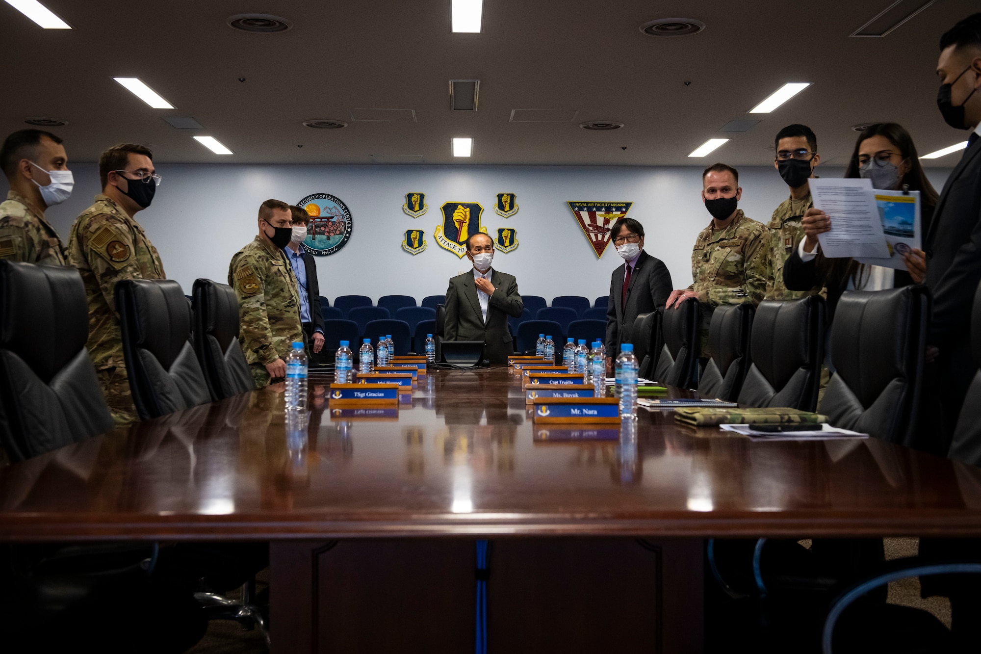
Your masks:
{"label": "camouflage jacket of man standing before the round wall seal", "polygon": [[238,298],[238,341],[250,364],[285,360],[303,340],[300,299],[283,250],[259,237],[232,256],[229,285]]}

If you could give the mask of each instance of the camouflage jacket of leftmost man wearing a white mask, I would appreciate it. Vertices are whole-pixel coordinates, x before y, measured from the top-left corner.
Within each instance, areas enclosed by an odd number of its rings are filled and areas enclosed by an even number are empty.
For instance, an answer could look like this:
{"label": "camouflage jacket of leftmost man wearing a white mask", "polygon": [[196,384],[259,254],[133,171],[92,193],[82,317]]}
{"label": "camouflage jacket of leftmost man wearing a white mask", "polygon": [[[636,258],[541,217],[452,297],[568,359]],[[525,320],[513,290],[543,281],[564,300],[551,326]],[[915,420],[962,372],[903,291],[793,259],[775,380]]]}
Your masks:
{"label": "camouflage jacket of leftmost man wearing a white mask", "polygon": [[68,256],[44,212],[17,191],[0,204],[0,259],[64,266]]}

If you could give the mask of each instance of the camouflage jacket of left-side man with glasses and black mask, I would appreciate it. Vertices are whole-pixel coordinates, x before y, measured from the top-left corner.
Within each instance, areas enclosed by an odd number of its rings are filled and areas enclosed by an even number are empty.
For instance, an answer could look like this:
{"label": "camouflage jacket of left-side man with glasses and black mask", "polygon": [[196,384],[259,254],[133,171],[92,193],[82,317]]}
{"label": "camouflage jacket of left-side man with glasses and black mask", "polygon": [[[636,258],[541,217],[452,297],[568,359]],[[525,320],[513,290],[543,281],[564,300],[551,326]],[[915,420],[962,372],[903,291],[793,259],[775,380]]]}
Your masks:
{"label": "camouflage jacket of left-side man with glasses and black mask", "polygon": [[69,262],[78,269],[88,299],[88,353],[96,370],[126,365],[123,337],[116,312],[116,282],[127,279],[167,279],[157,248],[139,223],[111,197],[96,195],[95,203],[72,225]]}

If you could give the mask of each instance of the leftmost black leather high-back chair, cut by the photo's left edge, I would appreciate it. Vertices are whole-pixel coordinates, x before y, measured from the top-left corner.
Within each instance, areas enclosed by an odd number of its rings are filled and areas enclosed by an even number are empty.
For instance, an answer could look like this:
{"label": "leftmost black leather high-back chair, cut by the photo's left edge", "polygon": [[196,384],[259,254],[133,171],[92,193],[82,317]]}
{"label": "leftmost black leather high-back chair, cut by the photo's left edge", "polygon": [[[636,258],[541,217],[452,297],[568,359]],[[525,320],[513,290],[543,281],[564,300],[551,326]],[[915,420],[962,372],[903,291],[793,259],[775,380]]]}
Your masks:
{"label": "leftmost black leather high-back chair, cut by the photo's left edge", "polygon": [[113,428],[87,339],[75,268],[0,260],[0,445],[12,463]]}

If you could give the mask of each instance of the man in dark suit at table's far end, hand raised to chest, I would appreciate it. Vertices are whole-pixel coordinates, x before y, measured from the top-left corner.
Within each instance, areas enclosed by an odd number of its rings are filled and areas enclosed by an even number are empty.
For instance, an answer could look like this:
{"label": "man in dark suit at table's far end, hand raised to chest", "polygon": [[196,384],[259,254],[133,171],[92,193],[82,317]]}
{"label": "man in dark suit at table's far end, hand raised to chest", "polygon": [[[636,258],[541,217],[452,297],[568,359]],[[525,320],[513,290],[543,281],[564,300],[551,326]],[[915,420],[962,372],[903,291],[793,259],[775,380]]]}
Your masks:
{"label": "man in dark suit at table's far end, hand raised to chest", "polygon": [[525,310],[518,282],[490,267],[493,241],[483,232],[467,239],[467,258],[474,269],[451,277],[446,289],[443,340],[483,341],[484,358],[507,363],[507,355],[514,354],[507,316]]}

